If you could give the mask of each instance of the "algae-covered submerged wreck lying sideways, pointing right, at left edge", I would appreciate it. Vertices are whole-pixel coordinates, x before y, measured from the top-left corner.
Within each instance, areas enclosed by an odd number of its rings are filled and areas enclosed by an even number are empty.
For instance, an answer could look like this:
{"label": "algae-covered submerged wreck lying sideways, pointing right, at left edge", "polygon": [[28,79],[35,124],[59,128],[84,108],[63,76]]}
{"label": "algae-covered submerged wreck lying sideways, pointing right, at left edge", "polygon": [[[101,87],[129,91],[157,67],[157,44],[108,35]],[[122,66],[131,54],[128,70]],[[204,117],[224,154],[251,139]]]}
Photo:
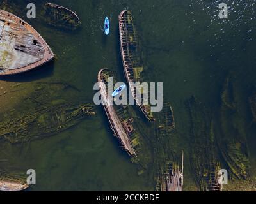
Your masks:
{"label": "algae-covered submerged wreck lying sideways, pointing right, at left edge", "polygon": [[11,143],[28,142],[71,128],[88,115],[95,115],[91,105],[68,103],[42,105],[23,115],[11,113],[1,121],[0,139],[3,138]]}

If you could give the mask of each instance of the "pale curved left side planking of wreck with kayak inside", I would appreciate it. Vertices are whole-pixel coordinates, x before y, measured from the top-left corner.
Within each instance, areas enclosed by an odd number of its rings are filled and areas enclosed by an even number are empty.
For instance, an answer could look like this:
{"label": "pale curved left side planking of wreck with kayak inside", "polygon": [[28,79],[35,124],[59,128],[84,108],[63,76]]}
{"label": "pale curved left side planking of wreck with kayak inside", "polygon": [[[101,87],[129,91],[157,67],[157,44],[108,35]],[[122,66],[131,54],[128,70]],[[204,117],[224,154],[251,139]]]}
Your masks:
{"label": "pale curved left side planking of wreck with kayak inside", "polygon": [[103,107],[108,117],[111,129],[113,131],[113,135],[116,136],[118,140],[120,140],[129,156],[137,157],[136,152],[132,147],[131,141],[129,139],[129,135],[125,132],[125,129],[122,126],[120,119],[118,118],[118,115],[116,114],[115,109],[113,108],[113,105],[110,104],[110,101],[108,99],[106,86],[102,79],[102,73],[104,71],[108,71],[108,69],[101,69],[98,74],[99,90],[101,94],[102,103],[104,103]]}

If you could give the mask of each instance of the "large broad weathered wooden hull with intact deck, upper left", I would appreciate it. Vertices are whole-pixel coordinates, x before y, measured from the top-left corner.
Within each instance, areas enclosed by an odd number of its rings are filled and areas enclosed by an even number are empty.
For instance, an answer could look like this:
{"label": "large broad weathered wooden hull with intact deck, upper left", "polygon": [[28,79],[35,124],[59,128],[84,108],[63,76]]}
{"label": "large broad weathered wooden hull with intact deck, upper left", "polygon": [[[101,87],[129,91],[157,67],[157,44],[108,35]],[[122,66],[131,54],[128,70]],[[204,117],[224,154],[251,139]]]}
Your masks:
{"label": "large broad weathered wooden hull with intact deck, upper left", "polygon": [[0,75],[23,73],[53,58],[51,48],[31,25],[0,10]]}

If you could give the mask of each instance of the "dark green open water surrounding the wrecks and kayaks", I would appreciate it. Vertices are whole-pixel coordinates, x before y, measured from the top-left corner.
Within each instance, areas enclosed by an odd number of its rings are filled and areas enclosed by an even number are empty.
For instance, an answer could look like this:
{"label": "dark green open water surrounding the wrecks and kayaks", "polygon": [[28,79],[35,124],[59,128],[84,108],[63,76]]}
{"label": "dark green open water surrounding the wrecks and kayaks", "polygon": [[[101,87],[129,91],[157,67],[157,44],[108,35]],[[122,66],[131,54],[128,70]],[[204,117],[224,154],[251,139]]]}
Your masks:
{"label": "dark green open water surrounding the wrecks and kayaks", "polygon": [[[118,15],[128,8],[141,34],[149,72],[156,82],[164,83],[164,97],[172,103],[180,135],[177,149],[185,152],[184,189],[193,189],[185,101],[195,95],[214,112],[220,107],[221,87],[228,73],[236,77],[241,98],[248,97],[248,89],[256,80],[255,1],[225,1],[230,5],[228,20],[218,18],[218,4],[222,2],[54,1],[77,11],[81,29],[70,33],[28,20],[50,45],[56,61],[45,73],[38,70],[28,73],[28,78],[24,75],[15,80],[65,80],[81,89],[77,100],[92,101],[93,84],[100,68],[122,74]],[[26,10],[20,12],[22,16]],[[111,21],[108,37],[102,33],[106,16]],[[243,117],[250,124],[250,110],[243,100],[241,104]],[[255,127],[249,129],[255,169]],[[0,143],[0,159],[8,159],[4,165],[35,169],[36,186],[31,187],[32,191],[154,190],[152,181],[146,175],[138,176],[136,165],[118,147],[101,107],[93,119],[51,138],[22,145]]]}

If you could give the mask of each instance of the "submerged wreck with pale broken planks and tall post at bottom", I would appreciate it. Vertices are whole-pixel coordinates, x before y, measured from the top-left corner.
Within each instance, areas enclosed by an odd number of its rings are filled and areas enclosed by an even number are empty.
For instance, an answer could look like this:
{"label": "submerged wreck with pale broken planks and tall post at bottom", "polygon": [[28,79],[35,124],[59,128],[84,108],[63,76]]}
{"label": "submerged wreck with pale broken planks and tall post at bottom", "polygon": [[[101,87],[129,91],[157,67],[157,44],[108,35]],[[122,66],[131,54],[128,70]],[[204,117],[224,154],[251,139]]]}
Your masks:
{"label": "submerged wreck with pale broken planks and tall post at bottom", "polygon": [[175,120],[170,103],[164,102],[163,110],[156,113],[154,129],[154,156],[159,166],[156,191],[183,191],[184,152],[182,150],[180,163],[174,152]]}

